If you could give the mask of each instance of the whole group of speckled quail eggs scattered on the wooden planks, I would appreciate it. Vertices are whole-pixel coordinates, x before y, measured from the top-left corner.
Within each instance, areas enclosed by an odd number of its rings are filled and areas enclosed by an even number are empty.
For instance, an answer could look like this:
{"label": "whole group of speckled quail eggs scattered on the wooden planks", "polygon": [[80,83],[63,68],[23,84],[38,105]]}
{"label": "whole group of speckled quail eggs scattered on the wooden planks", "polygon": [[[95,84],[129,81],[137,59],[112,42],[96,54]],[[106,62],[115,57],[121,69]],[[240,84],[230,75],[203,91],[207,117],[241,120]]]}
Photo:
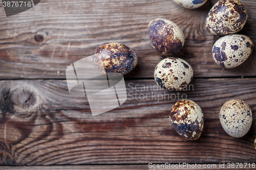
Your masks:
{"label": "whole group of speckled quail eggs scattered on the wooden planks", "polygon": [[[199,8],[207,0],[173,0],[188,8]],[[223,36],[212,47],[212,56],[217,64],[234,68],[242,64],[251,54],[253,43],[249,37],[234,34],[241,31],[247,20],[247,9],[239,0],[220,0],[206,17],[206,29],[214,35]],[[184,45],[185,38],[180,27],[173,21],[156,18],[148,25],[148,37],[157,52],[164,56],[177,54]],[[94,53],[93,63],[103,64],[105,72],[122,75],[133,70],[137,56],[131,48],[120,43],[105,43]],[[156,83],[167,90],[181,90],[193,79],[193,68],[181,58],[168,57],[160,61],[154,71]],[[220,111],[220,122],[227,134],[242,137],[252,124],[250,107],[241,100],[226,102]],[[174,129],[188,140],[200,137],[204,127],[204,116],[200,106],[190,100],[177,102],[170,111],[170,122]],[[256,149],[256,138],[254,141]]]}

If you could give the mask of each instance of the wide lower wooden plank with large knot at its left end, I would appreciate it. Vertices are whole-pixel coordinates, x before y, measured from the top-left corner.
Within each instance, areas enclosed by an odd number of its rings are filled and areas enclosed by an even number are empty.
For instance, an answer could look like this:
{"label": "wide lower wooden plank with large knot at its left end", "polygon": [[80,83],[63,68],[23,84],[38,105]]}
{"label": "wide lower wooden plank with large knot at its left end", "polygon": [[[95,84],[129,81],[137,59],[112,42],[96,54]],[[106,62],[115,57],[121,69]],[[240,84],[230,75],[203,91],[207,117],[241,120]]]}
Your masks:
{"label": "wide lower wooden plank with large knot at its left end", "polygon": [[[178,99],[160,100],[178,92],[157,90],[154,80],[126,81],[128,100],[97,116],[92,116],[86,97],[69,95],[66,81],[0,81],[0,163],[255,162],[255,121],[242,138],[227,135],[219,121],[220,108],[230,99],[244,100],[256,116],[255,83],[255,78],[193,80],[194,89],[180,94],[201,106],[205,128],[198,140],[187,141],[168,118]],[[142,99],[146,94],[149,100]]]}

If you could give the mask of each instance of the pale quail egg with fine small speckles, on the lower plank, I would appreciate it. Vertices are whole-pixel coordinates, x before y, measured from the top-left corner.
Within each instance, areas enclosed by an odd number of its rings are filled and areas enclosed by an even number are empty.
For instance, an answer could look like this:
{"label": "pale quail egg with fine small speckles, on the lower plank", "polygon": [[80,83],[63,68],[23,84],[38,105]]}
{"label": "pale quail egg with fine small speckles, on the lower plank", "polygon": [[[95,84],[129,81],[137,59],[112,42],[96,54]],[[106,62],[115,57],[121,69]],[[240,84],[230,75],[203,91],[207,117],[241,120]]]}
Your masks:
{"label": "pale quail egg with fine small speckles, on the lower plank", "polygon": [[252,124],[250,107],[241,100],[227,101],[220,111],[221,126],[232,137],[244,136]]}

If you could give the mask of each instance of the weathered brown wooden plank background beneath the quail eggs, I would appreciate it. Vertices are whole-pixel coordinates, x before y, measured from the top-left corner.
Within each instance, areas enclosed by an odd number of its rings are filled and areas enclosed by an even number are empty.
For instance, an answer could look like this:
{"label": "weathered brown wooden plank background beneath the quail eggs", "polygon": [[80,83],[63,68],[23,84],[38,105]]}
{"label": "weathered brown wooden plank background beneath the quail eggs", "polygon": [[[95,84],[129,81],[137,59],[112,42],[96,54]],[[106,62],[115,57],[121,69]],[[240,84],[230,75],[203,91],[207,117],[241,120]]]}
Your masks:
{"label": "weathered brown wooden plank background beneath the quail eggs", "polygon": [[[41,0],[10,17],[0,3],[0,163],[84,165],[38,169],[146,169],[149,162],[256,162],[256,53],[237,68],[215,64],[211,48],[219,36],[206,31],[205,18],[216,2],[185,9],[170,0]],[[242,2],[248,20],[240,33],[256,44],[256,4]],[[197,141],[180,137],[169,122],[178,99],[158,101],[154,95],[164,91],[141,89],[156,84],[154,68],[165,58],[147,36],[148,23],[159,17],[176,22],[185,35],[184,47],[174,56],[194,69],[194,89],[180,93],[204,112],[205,128]],[[125,75],[128,100],[92,116],[87,98],[69,94],[65,70],[104,42],[126,44],[139,60]],[[135,98],[136,93],[151,94],[151,100]],[[221,106],[231,99],[244,100],[253,112],[252,127],[242,138],[227,135],[219,121]]]}

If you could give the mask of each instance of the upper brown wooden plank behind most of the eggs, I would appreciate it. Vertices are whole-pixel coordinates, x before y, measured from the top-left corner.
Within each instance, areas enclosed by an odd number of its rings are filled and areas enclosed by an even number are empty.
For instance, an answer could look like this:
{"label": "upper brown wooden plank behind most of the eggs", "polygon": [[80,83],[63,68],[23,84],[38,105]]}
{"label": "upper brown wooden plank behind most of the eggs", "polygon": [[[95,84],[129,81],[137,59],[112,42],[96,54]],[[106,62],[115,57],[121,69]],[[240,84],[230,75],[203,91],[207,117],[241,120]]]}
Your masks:
{"label": "upper brown wooden plank behind most of the eggs", "polygon": [[[198,9],[184,9],[170,0],[41,1],[26,12],[5,17],[0,11],[0,79],[65,79],[65,69],[93,54],[102,43],[116,41],[130,46],[138,65],[126,78],[152,78],[165,58],[150,44],[147,25],[154,18],[176,22],[185,45],[175,55],[193,66],[195,77],[256,76],[255,52],[241,66],[225,69],[215,64],[211,48],[219,36],[204,28],[206,15],[217,1]],[[256,43],[256,6],[242,1],[248,21],[240,32]],[[2,4],[1,4],[2,6]]]}

